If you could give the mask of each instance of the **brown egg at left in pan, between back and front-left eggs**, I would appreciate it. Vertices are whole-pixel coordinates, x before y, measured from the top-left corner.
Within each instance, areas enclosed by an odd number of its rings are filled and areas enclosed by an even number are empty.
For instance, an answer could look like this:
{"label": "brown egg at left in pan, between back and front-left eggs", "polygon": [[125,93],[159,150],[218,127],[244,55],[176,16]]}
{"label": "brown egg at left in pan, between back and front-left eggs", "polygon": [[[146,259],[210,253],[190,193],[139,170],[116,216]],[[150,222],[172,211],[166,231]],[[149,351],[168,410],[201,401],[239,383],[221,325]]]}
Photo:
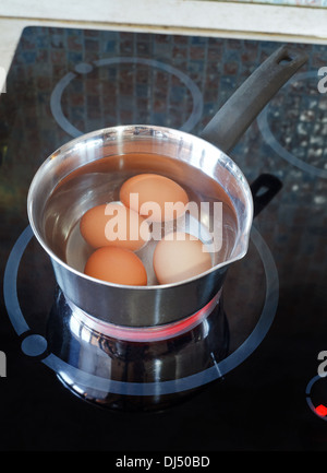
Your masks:
{"label": "brown egg at left in pan, between back and front-left eggs", "polygon": [[120,203],[89,209],[81,218],[80,230],[93,248],[116,246],[136,251],[149,238],[147,222]]}

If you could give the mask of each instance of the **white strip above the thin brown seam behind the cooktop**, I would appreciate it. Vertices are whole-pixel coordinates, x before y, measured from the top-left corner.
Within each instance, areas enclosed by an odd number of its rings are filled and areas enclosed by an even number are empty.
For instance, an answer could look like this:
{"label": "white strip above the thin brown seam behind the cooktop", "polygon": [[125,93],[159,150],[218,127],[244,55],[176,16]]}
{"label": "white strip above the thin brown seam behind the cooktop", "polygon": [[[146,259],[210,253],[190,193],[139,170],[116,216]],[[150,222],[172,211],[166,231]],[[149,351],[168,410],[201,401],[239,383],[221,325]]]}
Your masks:
{"label": "white strip above the thin brown seam behind the cooktop", "polygon": [[0,16],[326,38],[327,9],[196,0],[1,0]]}

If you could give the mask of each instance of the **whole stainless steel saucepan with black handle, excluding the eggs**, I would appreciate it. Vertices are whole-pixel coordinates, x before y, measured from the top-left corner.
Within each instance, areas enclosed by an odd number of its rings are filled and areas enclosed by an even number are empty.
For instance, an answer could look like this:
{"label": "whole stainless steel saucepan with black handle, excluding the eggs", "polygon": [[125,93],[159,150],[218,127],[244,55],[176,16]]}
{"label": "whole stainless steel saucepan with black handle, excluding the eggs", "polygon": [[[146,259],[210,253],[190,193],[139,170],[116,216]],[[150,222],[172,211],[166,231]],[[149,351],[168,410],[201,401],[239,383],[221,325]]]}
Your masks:
{"label": "whole stainless steel saucepan with black handle, excluding the eggs", "polygon": [[[253,221],[250,186],[228,152],[305,61],[302,54],[279,48],[222,106],[199,138],[165,127],[119,126],[72,140],[45,161],[29,188],[28,218],[70,304],[101,322],[156,328],[187,318],[217,300],[229,265],[247,251]],[[226,236],[232,238],[232,246],[223,260],[214,260],[213,268],[197,276],[165,285],[111,284],[83,273],[78,263],[86,250],[78,239],[77,222],[90,206],[116,200],[122,181],[137,173],[161,174],[211,200],[220,201],[222,193],[228,197],[235,228]]]}

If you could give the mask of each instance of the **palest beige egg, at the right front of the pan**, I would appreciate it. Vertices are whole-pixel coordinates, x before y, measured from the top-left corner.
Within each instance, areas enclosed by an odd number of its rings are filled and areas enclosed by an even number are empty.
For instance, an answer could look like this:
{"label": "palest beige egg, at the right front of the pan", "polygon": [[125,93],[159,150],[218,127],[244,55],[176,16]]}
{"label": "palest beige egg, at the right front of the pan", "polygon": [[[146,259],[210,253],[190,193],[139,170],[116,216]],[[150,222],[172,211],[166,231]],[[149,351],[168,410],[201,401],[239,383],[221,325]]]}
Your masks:
{"label": "palest beige egg, at the right front of the pan", "polygon": [[178,283],[211,268],[210,253],[197,238],[185,233],[165,236],[154,252],[154,270],[160,284]]}

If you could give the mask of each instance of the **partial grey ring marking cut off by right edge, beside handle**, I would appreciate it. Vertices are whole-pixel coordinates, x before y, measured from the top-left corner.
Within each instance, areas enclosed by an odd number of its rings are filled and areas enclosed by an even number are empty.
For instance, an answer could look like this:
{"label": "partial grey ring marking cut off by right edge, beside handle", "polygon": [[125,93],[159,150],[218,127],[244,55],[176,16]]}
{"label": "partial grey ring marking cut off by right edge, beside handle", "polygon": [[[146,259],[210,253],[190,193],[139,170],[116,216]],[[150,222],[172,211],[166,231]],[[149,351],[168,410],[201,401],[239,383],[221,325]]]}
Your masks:
{"label": "partial grey ring marking cut off by right edge, beside handle", "polygon": [[[293,76],[286,85],[289,85],[292,82],[302,81],[303,79],[307,79],[307,78],[317,79],[317,72],[316,71],[310,71],[310,72],[303,72],[301,74],[298,74],[298,75]],[[327,178],[327,169],[320,169],[317,166],[305,163],[304,161],[300,159],[299,157],[294,156],[292,153],[287,151],[277,141],[277,139],[272,134],[270,127],[269,127],[269,123],[268,123],[268,108],[269,108],[269,104],[263,109],[263,111],[257,117],[258,128],[259,128],[261,133],[264,137],[266,143],[268,143],[270,145],[270,147],[272,147],[272,150],[276,151],[277,154],[279,154],[281,157],[283,157],[286,161],[288,161],[293,166],[299,167],[300,169],[304,170],[305,173],[311,173],[315,176]]]}

